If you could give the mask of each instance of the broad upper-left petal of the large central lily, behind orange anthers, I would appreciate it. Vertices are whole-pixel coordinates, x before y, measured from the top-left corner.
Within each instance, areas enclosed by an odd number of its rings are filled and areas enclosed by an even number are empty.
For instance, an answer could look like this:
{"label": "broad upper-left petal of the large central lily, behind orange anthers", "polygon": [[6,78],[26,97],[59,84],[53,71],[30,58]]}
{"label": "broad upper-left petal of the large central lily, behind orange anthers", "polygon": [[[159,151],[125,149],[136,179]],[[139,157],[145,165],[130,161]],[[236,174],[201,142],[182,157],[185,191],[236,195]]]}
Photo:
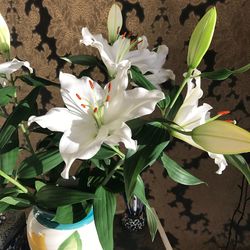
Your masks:
{"label": "broad upper-left petal of the large central lily, behind orange anthers", "polygon": [[89,107],[94,108],[104,99],[105,92],[89,77],[76,78],[60,72],[61,95],[67,108],[78,116],[86,117]]}

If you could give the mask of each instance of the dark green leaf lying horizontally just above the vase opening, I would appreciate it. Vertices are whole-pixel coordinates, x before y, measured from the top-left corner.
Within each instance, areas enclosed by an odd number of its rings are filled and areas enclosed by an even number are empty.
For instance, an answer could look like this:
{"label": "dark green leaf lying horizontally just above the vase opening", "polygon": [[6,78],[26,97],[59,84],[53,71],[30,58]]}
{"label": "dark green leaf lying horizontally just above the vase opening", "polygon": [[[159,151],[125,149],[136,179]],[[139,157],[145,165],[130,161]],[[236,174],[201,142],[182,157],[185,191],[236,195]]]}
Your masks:
{"label": "dark green leaf lying horizontally just above the vase opening", "polygon": [[48,209],[92,200],[95,195],[58,186],[46,185],[36,193],[36,203]]}

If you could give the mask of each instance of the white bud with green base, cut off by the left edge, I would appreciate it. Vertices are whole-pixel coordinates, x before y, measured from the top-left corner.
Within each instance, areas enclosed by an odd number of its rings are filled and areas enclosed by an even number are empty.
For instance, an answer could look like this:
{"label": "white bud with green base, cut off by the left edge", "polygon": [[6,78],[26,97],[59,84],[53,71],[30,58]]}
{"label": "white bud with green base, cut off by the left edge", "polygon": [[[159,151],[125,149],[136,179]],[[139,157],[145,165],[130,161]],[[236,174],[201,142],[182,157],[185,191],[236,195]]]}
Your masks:
{"label": "white bud with green base, cut off by the left edge", "polygon": [[0,53],[9,54],[10,52],[10,31],[9,28],[0,14]]}

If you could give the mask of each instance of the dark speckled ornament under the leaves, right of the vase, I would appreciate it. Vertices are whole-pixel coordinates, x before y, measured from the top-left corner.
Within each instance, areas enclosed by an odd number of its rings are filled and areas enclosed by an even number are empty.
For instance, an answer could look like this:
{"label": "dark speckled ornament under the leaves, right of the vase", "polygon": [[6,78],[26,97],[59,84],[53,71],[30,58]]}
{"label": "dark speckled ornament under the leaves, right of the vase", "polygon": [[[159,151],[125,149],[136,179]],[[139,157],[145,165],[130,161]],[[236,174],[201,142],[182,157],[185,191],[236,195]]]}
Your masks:
{"label": "dark speckled ornament under the leaves, right of the vase", "polygon": [[129,203],[122,218],[122,225],[130,232],[142,230],[145,226],[145,209],[142,202],[134,196]]}

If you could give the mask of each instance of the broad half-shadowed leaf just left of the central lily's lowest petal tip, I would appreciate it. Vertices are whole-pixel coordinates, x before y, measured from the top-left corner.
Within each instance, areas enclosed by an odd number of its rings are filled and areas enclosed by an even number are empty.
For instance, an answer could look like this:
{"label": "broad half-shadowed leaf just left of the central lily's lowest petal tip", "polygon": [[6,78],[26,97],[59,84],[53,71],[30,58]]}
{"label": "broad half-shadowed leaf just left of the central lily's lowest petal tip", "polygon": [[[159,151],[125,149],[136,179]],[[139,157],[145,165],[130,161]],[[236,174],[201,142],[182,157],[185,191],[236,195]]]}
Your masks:
{"label": "broad half-shadowed leaf just left of the central lily's lowest petal tip", "polygon": [[40,174],[47,173],[63,162],[58,149],[48,149],[26,158],[18,168],[18,178],[33,178]]}

